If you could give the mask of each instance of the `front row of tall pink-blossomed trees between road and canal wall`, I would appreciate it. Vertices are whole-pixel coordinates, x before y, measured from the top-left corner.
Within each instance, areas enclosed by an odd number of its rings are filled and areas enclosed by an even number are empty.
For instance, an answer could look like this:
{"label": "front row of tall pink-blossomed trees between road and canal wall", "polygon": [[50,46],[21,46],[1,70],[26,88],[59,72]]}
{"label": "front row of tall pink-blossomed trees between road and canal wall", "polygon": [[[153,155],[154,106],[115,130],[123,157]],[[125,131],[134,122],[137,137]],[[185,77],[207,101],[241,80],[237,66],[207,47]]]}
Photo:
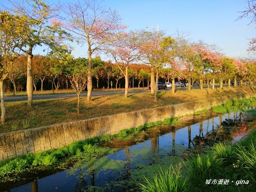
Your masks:
{"label": "front row of tall pink-blossomed trees between road and canal wall", "polygon": [[[176,37],[170,37],[161,31],[127,32],[117,12],[101,6],[101,2],[97,0],[73,1],[64,5],[49,5],[42,0],[10,2],[12,8],[0,11],[2,123],[5,121],[3,81],[7,77],[12,79],[10,74],[14,71],[13,66],[20,53],[26,55],[28,106],[32,106],[33,87],[36,81],[40,79],[43,84],[44,79],[50,76],[53,89],[53,87],[58,88],[59,79],[63,76],[65,81],[69,80],[73,89],[76,90],[78,112],[81,91],[87,87],[87,101],[90,101],[93,76],[98,80],[102,76],[103,72],[99,65],[94,66],[93,69],[92,62],[92,55],[99,51],[108,55],[124,76],[125,97],[128,96],[131,64],[136,62],[150,66],[151,93],[155,95],[155,101],[157,99],[155,84],[163,69],[168,68],[166,71],[171,76],[174,93],[175,78],[186,79],[189,83],[189,91],[193,76],[199,79],[201,89],[204,78],[207,82],[211,79],[214,88],[215,78],[219,77],[221,82],[224,79],[229,79],[230,82],[232,78],[236,81],[237,77],[242,79],[248,74],[247,69],[250,67],[247,65],[254,66],[251,63],[225,58],[217,52],[215,46],[202,42],[191,43],[179,34]],[[86,44],[85,52],[88,55],[86,61],[73,58],[70,51],[72,47],[67,44],[67,40]],[[36,46],[43,44],[49,47],[49,56],[41,61],[44,63],[43,66],[40,67],[38,64],[38,67],[32,52]],[[44,68],[46,70],[43,70]],[[107,75],[108,79],[112,73]],[[253,78],[250,77],[250,81],[255,81]]]}

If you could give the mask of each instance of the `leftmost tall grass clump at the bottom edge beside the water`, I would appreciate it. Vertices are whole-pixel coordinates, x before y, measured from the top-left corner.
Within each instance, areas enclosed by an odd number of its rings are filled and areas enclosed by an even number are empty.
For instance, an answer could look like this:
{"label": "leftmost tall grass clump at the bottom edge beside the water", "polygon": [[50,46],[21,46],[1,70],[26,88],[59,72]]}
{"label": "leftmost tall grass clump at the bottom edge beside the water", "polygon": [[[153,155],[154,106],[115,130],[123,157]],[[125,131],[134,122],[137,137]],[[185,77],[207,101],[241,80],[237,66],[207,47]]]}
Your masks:
{"label": "leftmost tall grass clump at the bottom edge beside the water", "polygon": [[145,178],[145,185],[140,184],[143,192],[184,192],[186,179],[181,177],[181,163],[170,166],[169,169],[161,169],[159,174],[154,175],[153,181]]}

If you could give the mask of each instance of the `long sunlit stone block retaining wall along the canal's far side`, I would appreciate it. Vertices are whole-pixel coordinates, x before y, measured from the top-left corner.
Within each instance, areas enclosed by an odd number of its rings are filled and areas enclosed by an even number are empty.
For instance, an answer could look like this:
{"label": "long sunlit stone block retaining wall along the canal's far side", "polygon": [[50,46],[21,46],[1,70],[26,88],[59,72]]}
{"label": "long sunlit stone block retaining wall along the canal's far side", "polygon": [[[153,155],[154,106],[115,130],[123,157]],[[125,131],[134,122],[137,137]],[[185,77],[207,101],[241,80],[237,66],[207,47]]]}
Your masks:
{"label": "long sunlit stone block retaining wall along the canal's far side", "polygon": [[247,97],[244,94],[222,96],[0,134],[0,160],[59,148],[103,134],[116,134],[123,129],[192,114],[195,111],[211,109],[230,99]]}

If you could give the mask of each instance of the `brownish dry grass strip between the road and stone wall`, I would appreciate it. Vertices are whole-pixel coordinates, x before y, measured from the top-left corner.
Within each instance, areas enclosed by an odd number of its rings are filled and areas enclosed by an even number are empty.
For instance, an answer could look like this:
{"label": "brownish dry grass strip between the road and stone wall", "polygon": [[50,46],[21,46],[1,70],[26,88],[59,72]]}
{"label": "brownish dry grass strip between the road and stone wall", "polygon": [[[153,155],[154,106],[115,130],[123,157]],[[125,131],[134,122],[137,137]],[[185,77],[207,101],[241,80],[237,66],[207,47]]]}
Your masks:
{"label": "brownish dry grass strip between the road and stone wall", "polygon": [[157,102],[154,102],[154,96],[150,93],[133,93],[127,99],[120,94],[98,96],[93,97],[89,103],[83,97],[79,115],[76,111],[76,98],[35,100],[32,109],[27,106],[26,101],[7,102],[6,123],[0,125],[0,133],[238,93],[247,93],[247,90],[232,87],[224,88],[222,93],[218,90],[210,90],[208,93],[206,89],[193,89],[190,93],[177,89],[175,94],[161,91],[157,95]]}

